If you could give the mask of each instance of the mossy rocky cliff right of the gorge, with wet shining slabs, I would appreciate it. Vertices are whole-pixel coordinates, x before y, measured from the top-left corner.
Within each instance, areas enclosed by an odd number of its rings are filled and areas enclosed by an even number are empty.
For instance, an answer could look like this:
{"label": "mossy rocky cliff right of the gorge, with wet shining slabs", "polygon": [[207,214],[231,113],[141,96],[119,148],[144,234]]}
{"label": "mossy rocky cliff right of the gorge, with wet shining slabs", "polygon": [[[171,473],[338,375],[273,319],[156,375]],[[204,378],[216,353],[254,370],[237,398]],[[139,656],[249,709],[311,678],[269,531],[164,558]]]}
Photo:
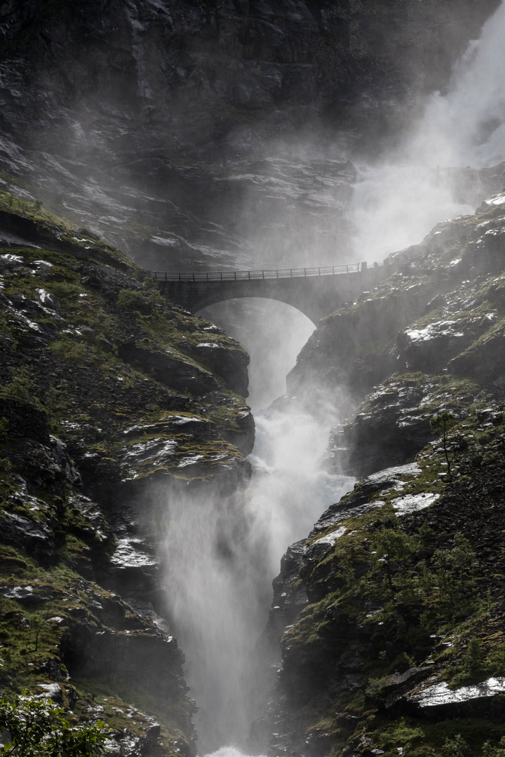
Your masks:
{"label": "mossy rocky cliff right of the gorge, with wet shining slabs", "polygon": [[499,753],[504,209],[435,227],[291,373],[366,394],[328,462],[368,478],[274,581],[273,753]]}

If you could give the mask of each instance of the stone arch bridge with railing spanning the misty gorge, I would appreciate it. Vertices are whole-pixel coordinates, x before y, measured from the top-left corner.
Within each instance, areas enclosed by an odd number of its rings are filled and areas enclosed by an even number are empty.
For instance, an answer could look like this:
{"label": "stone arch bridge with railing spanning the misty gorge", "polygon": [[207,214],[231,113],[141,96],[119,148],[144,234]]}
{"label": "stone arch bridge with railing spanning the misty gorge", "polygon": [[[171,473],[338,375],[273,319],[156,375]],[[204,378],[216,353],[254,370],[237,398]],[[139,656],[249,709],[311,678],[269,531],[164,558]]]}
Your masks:
{"label": "stone arch bridge with railing spanning the misty gorge", "polygon": [[394,273],[394,263],[353,263],[349,266],[284,268],[260,271],[181,273],[154,271],[168,301],[190,313],[225,300],[260,297],[296,307],[316,324],[345,302]]}

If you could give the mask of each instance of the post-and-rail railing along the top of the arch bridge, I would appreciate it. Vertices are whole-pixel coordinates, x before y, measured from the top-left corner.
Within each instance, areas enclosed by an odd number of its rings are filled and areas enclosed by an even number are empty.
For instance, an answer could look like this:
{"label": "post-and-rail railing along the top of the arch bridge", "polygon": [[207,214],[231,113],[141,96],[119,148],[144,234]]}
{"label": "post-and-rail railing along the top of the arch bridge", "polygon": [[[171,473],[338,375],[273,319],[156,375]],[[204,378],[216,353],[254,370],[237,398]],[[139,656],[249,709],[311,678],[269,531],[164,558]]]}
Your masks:
{"label": "post-and-rail railing along the top of the arch bridge", "polygon": [[[382,263],[379,263],[382,265]],[[377,263],[374,264],[377,267]],[[295,279],[304,276],[337,276],[366,269],[366,263],[348,266],[318,266],[316,268],[275,268],[261,271],[153,271],[153,278],[165,282],[231,282],[254,279]]]}

